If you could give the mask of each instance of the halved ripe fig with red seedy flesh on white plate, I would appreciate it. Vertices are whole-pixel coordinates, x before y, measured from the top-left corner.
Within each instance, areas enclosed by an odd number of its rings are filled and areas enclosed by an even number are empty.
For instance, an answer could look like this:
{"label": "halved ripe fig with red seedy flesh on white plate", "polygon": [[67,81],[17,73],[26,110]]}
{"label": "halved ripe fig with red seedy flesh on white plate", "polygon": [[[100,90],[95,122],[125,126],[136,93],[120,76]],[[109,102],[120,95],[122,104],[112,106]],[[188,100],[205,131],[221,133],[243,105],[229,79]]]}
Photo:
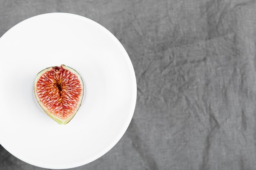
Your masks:
{"label": "halved ripe fig with red seedy flesh on white plate", "polygon": [[67,124],[83,99],[83,80],[65,65],[45,68],[37,74],[34,93],[38,104],[58,124]]}

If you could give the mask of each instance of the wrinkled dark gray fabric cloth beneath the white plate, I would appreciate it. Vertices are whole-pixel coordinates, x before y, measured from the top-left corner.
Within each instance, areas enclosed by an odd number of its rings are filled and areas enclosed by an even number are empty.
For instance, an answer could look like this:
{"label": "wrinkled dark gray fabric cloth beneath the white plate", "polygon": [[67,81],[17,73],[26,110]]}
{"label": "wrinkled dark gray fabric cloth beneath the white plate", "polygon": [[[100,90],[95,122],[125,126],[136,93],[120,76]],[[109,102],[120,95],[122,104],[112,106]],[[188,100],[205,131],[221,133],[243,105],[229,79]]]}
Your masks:
{"label": "wrinkled dark gray fabric cloth beneath the white plate", "polygon": [[[0,35],[49,12],[105,26],[137,76],[125,135],[74,170],[256,169],[255,0],[0,0]],[[0,146],[0,170],[42,169]]]}

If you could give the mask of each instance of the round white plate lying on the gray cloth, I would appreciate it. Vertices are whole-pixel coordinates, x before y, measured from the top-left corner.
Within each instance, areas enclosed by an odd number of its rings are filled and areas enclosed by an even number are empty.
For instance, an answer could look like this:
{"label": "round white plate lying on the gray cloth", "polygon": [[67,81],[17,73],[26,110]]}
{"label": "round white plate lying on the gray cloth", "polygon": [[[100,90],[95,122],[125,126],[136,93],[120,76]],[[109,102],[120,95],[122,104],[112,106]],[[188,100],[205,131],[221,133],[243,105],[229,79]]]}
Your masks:
{"label": "round white plate lying on the gray cloth", "polygon": [[[108,152],[128,128],[136,78],[121,43],[79,15],[47,13],[13,26],[0,38],[0,144],[17,158],[52,169],[84,165]],[[58,125],[33,92],[36,74],[65,64],[83,78],[74,118]]]}

